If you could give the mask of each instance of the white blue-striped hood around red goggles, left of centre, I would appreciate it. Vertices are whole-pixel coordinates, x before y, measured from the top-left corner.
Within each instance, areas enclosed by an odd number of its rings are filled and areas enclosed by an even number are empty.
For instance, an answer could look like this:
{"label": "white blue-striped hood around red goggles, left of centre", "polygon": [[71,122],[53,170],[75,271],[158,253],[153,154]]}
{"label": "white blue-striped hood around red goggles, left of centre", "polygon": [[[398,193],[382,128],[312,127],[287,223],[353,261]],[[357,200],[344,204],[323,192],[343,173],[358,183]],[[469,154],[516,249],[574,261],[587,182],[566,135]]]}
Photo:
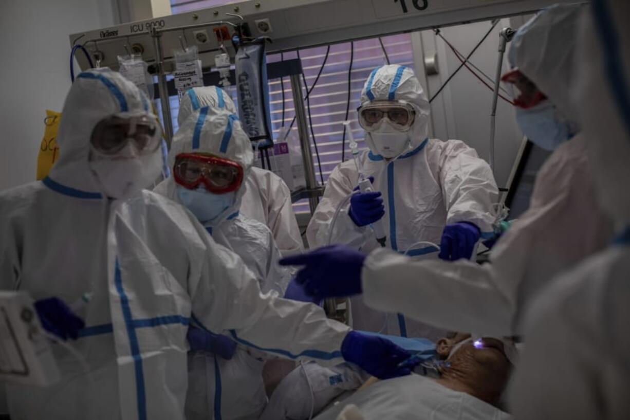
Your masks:
{"label": "white blue-striped hood around red goggles, left of centre", "polygon": [[[236,191],[234,204],[219,214],[212,225],[216,226],[238,213],[245,193],[244,180],[247,179],[254,160],[249,137],[243,131],[238,117],[222,112],[213,114],[210,107],[202,107],[193,112],[173,137],[173,144],[168,155],[168,165],[171,168],[175,165],[175,158],[180,153],[210,153],[243,166],[243,184]],[[156,192],[180,202],[176,194],[176,185],[175,178],[169,177],[157,185]]]}

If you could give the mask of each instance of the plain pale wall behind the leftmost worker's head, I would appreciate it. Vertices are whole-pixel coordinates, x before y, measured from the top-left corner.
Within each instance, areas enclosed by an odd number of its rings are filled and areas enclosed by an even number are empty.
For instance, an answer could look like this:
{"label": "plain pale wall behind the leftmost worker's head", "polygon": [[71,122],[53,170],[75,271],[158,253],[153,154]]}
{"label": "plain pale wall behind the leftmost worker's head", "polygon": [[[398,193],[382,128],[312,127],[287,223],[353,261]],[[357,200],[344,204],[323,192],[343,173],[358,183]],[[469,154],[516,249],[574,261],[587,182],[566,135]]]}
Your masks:
{"label": "plain pale wall behind the leftmost worker's head", "polygon": [[60,111],[71,84],[68,35],[117,23],[112,4],[0,1],[0,190],[35,180],[45,110]]}

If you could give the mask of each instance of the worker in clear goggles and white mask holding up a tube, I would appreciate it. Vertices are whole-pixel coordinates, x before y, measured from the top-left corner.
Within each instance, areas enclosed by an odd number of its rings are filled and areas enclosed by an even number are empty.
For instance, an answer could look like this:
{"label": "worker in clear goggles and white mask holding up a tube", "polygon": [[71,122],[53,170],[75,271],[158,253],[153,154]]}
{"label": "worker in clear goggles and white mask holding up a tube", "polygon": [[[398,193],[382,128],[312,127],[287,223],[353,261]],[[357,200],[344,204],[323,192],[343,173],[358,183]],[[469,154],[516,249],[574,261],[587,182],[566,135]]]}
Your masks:
{"label": "worker in clear goggles and white mask holding up a tube", "polygon": [[[353,194],[359,173],[353,160],[338,165],[307,229],[312,248],[328,245],[335,209],[350,194],[335,222],[330,243],[363,252],[379,247],[369,225],[381,220],[387,248],[411,256],[437,249],[443,259],[470,258],[482,236],[493,233],[493,204],[498,190],[488,163],[458,140],[429,139],[429,103],[413,70],[403,66],[374,69],[358,109],[369,151],[359,156],[375,192]],[[391,335],[438,339],[444,332],[419,322],[375,312],[352,300],[353,326]]]}

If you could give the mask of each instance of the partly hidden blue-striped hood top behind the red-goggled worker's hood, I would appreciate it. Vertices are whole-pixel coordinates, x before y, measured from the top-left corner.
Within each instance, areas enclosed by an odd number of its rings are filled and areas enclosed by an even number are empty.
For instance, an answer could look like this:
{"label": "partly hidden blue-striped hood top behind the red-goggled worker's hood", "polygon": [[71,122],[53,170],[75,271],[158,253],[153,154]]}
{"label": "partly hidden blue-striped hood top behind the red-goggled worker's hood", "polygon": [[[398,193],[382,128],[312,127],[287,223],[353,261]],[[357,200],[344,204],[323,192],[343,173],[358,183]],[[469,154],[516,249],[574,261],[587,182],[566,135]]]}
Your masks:
{"label": "partly hidden blue-striped hood top behind the red-goggled worker's hood", "polygon": [[196,110],[202,107],[209,107],[209,113],[214,114],[234,114],[236,105],[230,95],[219,86],[202,86],[186,91],[186,95],[181,98],[180,112],[177,114],[177,123],[181,127],[184,122]]}

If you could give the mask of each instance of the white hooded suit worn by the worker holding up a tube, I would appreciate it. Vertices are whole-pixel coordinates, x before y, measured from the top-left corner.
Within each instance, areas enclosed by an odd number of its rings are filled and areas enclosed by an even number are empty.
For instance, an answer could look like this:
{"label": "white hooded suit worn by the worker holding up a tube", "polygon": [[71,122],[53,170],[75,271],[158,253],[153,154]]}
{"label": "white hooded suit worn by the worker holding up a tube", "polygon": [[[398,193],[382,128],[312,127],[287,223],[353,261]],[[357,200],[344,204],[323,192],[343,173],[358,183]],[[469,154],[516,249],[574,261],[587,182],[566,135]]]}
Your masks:
{"label": "white hooded suit worn by the worker holding up a tube", "polygon": [[[413,71],[402,66],[374,69],[361,94],[362,103],[373,100],[404,100],[416,113],[409,145],[396,160],[386,161],[377,155],[369,133],[365,140],[370,151],[359,157],[365,177],[374,177],[374,190],[382,192],[385,215],[381,220],[387,233],[387,247],[398,254],[408,250],[411,256],[437,257],[436,248],[415,244],[418,241],[439,244],[444,226],[461,221],[474,223],[482,234],[491,235],[492,209],[498,189],[490,166],[462,141],[427,138],[429,103]],[[333,170],[306,231],[311,247],[328,244],[335,209],[358,185],[358,178],[352,160]],[[344,243],[364,252],[379,247],[369,226],[360,228],[353,223],[348,208],[338,215],[331,243]],[[438,339],[444,335],[416,322],[403,325],[396,315],[389,316],[385,325],[386,316],[367,308],[361,298],[352,299],[352,316],[353,327],[360,330],[403,335],[406,327],[410,337]]]}

